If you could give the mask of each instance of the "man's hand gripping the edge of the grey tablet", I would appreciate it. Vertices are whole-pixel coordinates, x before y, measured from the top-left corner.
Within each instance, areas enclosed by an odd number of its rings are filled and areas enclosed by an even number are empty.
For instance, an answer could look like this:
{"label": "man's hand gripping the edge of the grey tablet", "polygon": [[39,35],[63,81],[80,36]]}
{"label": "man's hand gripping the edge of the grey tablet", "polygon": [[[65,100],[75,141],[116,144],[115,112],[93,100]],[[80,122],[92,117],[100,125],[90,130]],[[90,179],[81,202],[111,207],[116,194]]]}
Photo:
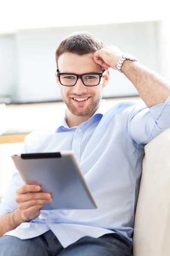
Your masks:
{"label": "man's hand gripping the edge of the grey tablet", "polygon": [[[50,193],[39,192],[41,189],[38,185],[20,186],[16,193],[18,208],[17,214],[22,222],[31,221],[40,215],[40,209],[47,203],[51,203],[53,198]],[[31,192],[31,193],[30,193]]]}

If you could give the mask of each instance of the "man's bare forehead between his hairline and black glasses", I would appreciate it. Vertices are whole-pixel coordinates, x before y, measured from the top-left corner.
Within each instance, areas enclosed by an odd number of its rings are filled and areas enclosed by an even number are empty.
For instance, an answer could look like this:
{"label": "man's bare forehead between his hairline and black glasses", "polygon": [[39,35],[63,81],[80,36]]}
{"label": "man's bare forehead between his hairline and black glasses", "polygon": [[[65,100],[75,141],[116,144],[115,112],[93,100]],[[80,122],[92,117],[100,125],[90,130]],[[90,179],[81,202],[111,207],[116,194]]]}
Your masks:
{"label": "man's bare forehead between his hairline and black glasses", "polygon": [[96,64],[93,53],[78,55],[71,52],[64,52],[58,58],[59,72],[101,72],[101,66]]}

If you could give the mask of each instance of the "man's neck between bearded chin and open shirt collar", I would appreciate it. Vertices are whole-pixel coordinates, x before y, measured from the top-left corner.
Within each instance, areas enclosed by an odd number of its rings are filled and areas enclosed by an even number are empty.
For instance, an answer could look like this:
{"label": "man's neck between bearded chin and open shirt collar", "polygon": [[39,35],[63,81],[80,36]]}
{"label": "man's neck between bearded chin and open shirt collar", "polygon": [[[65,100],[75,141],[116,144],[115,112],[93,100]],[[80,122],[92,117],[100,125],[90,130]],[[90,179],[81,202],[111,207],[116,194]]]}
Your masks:
{"label": "man's neck between bearded chin and open shirt collar", "polygon": [[[99,108],[99,105],[97,106],[97,108]],[[67,108],[67,110],[66,110],[66,122],[67,122],[68,127],[71,128],[71,127],[74,127],[74,126],[79,126],[83,122],[88,121],[88,119],[91,118],[91,116],[94,115],[97,108],[87,116],[76,116],[73,113],[71,113],[71,111],[69,111],[69,109]]]}

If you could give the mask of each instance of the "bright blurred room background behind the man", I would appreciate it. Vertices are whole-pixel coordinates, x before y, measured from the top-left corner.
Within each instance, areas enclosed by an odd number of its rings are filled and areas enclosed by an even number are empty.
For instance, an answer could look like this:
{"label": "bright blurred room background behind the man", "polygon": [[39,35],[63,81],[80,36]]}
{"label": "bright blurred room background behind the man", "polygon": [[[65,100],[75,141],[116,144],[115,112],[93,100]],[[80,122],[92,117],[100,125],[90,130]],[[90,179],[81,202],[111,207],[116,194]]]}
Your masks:
{"label": "bright blurred room background behind the man", "polygon": [[[26,134],[56,125],[65,109],[55,81],[60,41],[88,31],[170,80],[169,24],[164,0],[0,0],[0,193],[11,177],[10,155]],[[103,98],[143,103],[116,70]]]}

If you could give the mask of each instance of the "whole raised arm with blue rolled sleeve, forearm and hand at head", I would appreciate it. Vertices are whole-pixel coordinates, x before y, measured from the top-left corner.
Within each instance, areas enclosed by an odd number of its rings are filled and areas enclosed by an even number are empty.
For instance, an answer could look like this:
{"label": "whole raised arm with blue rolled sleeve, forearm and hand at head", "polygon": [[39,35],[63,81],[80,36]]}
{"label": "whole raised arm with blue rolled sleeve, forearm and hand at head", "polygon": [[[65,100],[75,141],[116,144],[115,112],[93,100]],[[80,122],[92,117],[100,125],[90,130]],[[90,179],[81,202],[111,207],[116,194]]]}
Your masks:
{"label": "whole raised arm with blue rolled sleeve, forearm and hand at head", "polygon": [[[94,61],[102,69],[116,70],[122,52],[108,45],[94,52]],[[162,131],[170,128],[170,86],[159,74],[138,62],[125,60],[122,72],[134,84],[146,107],[132,106],[119,113],[130,137],[136,142],[147,144]]]}

